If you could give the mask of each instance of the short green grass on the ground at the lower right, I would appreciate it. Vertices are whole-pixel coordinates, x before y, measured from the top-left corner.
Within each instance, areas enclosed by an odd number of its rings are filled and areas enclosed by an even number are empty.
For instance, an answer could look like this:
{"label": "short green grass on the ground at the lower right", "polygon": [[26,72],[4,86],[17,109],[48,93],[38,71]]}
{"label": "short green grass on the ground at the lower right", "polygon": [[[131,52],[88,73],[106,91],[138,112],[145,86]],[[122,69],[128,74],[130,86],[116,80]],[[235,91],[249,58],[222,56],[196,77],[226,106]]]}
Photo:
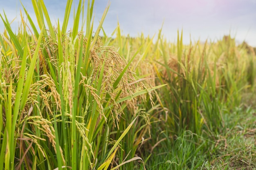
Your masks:
{"label": "short green grass on the ground at the lower right", "polygon": [[255,109],[234,111],[224,118],[225,130],[214,137],[184,131],[170,136],[168,130],[152,139],[164,139],[153,150],[146,168],[152,170],[251,170],[255,161]]}

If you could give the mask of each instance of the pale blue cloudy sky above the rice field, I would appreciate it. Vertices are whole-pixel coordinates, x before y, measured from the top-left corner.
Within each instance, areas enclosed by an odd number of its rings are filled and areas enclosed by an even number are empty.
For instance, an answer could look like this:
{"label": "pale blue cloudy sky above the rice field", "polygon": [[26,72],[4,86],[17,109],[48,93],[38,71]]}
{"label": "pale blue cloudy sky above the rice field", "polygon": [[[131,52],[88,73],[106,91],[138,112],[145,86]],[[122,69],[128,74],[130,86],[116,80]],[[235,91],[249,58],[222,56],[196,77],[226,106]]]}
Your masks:
{"label": "pale blue cloudy sky above the rice field", "polygon": [[[36,21],[31,1],[21,2]],[[52,23],[56,24],[58,19],[62,23],[66,0],[44,2]],[[79,0],[73,2],[77,6]],[[11,26],[17,30],[20,0],[0,0],[0,4],[0,13],[4,11],[9,21],[16,18]],[[95,0],[95,29],[107,5],[108,0]],[[249,45],[256,46],[256,0],[110,0],[103,24],[107,35],[111,35],[118,22],[123,35],[139,36],[143,32],[153,37],[162,28],[162,34],[170,42],[176,41],[177,30],[183,30],[183,42],[186,44],[190,40],[216,41],[230,34],[238,44],[245,40]],[[71,26],[72,23],[69,28]],[[4,25],[0,20],[0,34],[3,30]]]}

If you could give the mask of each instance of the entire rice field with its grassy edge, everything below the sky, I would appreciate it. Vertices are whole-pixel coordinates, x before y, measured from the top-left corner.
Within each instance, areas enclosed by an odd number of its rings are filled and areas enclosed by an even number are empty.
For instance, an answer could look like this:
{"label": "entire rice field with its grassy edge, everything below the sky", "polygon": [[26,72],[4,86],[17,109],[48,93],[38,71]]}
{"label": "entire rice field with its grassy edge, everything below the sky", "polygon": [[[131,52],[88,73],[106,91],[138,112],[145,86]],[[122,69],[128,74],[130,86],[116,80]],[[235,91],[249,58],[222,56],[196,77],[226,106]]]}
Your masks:
{"label": "entire rice field with its grassy edge, everything below the sky", "polygon": [[31,2],[18,33],[0,14],[0,170],[256,168],[256,48],[108,37],[94,0],[56,26]]}

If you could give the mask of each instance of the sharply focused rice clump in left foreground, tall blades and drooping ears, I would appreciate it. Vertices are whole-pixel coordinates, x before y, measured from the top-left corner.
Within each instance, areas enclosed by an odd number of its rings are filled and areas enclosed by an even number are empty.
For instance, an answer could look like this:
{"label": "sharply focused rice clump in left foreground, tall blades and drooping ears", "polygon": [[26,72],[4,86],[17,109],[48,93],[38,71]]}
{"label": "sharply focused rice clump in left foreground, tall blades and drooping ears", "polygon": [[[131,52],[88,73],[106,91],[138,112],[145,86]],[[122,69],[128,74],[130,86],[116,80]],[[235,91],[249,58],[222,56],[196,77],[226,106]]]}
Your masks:
{"label": "sharply focused rice clump in left foreground, tall blades and drooping ears", "polygon": [[136,55],[126,62],[103,46],[99,32],[108,7],[92,34],[94,0],[88,1],[86,18],[80,0],[66,33],[72,0],[62,27],[52,26],[43,0],[32,4],[37,23],[24,11],[33,31],[22,17],[15,35],[0,15],[7,30],[1,36],[0,169],[113,168],[121,141],[141,117],[137,97],[164,85],[144,89],[130,70]]}

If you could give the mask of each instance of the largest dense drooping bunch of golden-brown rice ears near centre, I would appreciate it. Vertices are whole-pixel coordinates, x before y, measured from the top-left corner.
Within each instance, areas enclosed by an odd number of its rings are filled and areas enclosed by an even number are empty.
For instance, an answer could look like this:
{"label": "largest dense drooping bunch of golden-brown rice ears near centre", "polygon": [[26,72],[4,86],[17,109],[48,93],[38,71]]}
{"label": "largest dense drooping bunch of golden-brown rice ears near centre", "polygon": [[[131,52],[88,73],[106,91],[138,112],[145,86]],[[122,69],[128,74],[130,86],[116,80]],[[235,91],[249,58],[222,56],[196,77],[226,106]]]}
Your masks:
{"label": "largest dense drooping bunch of golden-brown rice ears near centre", "polygon": [[[92,79],[98,79],[98,77],[96,77],[98,75],[97,71],[102,68],[103,62],[105,63],[100,94],[103,95],[101,99],[106,97],[106,95],[104,95],[106,93],[110,95],[110,103],[114,104],[114,112],[112,113],[115,113],[112,117],[115,118],[117,123],[119,116],[121,116],[120,113],[122,113],[122,104],[115,104],[117,93],[121,91],[120,98],[123,98],[134,94],[139,89],[143,89],[144,86],[141,82],[136,81],[135,75],[132,73],[130,68],[128,68],[121,77],[117,87],[113,89],[113,84],[127,66],[126,60],[124,57],[119,55],[113,47],[103,46],[99,39],[90,52],[91,64],[92,68],[94,68]],[[130,100],[126,100],[126,105],[131,113],[135,113],[134,111],[137,108],[137,98],[135,97]]]}

